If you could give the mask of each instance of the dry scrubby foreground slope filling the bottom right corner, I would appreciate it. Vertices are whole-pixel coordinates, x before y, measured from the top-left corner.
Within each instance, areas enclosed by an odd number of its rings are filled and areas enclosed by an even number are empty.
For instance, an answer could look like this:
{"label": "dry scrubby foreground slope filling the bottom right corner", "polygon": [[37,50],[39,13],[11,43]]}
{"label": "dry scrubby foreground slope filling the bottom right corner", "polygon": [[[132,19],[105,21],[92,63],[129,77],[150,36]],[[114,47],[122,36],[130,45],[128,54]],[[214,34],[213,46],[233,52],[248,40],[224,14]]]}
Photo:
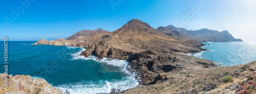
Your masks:
{"label": "dry scrubby foreground slope filling the bottom right corner", "polygon": [[121,93],[256,93],[256,60],[246,65],[209,68],[189,66],[193,62],[169,66],[171,71],[155,74],[154,84]]}

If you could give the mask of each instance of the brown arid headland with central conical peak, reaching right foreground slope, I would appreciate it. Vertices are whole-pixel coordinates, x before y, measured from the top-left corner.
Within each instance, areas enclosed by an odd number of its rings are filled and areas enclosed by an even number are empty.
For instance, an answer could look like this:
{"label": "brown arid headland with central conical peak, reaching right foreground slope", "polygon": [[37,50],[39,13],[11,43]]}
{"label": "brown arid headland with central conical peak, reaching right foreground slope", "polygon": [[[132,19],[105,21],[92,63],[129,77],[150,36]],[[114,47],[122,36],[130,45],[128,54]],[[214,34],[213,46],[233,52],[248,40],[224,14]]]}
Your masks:
{"label": "brown arid headland with central conical peak, reaching right foreground slope", "polygon": [[87,50],[81,55],[86,57],[129,61],[140,86],[119,93],[255,93],[256,61],[218,67],[216,62],[180,54],[206,50],[201,48],[204,44],[183,34],[133,19],[114,32],[82,30],[67,39],[42,39],[36,44],[84,47]]}

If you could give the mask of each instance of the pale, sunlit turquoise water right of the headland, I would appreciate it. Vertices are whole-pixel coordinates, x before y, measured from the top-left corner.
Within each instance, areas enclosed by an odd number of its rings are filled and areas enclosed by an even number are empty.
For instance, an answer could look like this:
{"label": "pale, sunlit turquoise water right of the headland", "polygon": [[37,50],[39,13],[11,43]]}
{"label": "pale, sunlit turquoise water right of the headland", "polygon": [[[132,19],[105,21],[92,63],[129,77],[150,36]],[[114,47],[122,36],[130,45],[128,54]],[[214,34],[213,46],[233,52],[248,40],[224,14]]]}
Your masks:
{"label": "pale, sunlit turquoise water right of the headland", "polygon": [[247,64],[256,60],[256,42],[228,42],[204,43],[209,44],[203,48],[211,51],[202,51],[193,56],[212,60],[221,66],[235,66]]}

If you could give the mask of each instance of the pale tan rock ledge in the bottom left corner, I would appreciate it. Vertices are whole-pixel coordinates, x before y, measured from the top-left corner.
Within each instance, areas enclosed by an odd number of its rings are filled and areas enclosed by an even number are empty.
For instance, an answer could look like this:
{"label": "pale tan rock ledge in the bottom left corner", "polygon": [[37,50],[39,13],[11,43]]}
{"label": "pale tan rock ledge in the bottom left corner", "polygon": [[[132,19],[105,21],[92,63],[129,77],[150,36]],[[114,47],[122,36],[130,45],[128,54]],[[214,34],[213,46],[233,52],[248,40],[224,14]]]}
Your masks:
{"label": "pale tan rock ledge in the bottom left corner", "polygon": [[[5,78],[8,78],[8,89],[5,88]],[[19,94],[27,94],[27,93],[51,93],[51,94],[59,94],[62,93],[60,89],[55,88],[51,84],[49,84],[45,79],[33,79],[29,75],[8,75],[5,76],[1,74],[0,76],[0,93],[19,93]]]}

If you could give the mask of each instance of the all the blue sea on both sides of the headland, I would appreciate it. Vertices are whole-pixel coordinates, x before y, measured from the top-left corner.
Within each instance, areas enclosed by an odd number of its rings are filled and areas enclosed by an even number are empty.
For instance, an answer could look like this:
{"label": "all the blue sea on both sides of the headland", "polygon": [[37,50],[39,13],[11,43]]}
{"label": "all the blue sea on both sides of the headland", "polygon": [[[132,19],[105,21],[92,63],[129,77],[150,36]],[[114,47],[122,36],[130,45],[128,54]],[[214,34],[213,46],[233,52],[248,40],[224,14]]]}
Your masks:
{"label": "all the blue sea on both sides of the headland", "polygon": [[[29,45],[36,41],[8,42],[8,73],[44,78],[56,88],[70,93],[110,93],[139,85],[135,73],[131,73],[125,60],[84,57],[81,47]],[[209,46],[193,56],[234,66],[256,60],[256,42],[204,43]],[[4,42],[0,41],[3,48]],[[4,54],[0,57],[4,58]],[[4,62],[2,59],[1,62]],[[3,63],[1,63],[4,66]],[[5,69],[0,68],[0,73]]]}

